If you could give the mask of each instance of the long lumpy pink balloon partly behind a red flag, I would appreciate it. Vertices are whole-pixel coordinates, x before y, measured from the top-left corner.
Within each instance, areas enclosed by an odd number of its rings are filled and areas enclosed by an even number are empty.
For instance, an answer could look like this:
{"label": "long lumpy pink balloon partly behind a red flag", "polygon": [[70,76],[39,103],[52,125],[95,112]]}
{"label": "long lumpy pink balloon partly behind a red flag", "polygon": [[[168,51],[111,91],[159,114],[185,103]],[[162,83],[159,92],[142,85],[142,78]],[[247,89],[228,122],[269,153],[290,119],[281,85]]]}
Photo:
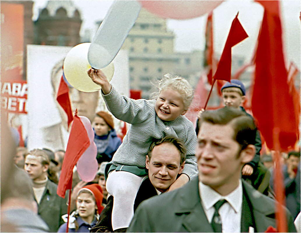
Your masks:
{"label": "long lumpy pink balloon partly behind a red flag", "polygon": [[90,140],[90,146],[77,161],[76,168],[80,179],[85,182],[90,182],[95,178],[98,170],[98,162],[96,160],[97,147],[94,142],[94,131],[92,129],[90,120],[85,116],[79,116],[79,118],[87,131],[88,138]]}

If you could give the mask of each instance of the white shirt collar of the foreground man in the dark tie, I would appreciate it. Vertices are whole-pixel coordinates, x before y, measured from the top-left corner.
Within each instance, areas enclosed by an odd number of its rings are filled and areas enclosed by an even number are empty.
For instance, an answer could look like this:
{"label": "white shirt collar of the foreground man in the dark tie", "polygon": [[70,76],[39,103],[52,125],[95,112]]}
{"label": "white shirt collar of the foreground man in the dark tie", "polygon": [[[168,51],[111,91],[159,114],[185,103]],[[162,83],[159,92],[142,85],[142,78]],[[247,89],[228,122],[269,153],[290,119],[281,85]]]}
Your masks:
{"label": "white shirt collar of the foreground man in the dark tie", "polygon": [[204,185],[202,182],[199,182],[200,198],[203,204],[203,208],[209,210],[213,205],[221,200],[225,199],[234,209],[235,213],[239,212],[242,201],[243,201],[243,188],[242,182],[239,181],[237,188],[235,188],[230,194],[222,196],[221,194],[214,191],[208,185]]}

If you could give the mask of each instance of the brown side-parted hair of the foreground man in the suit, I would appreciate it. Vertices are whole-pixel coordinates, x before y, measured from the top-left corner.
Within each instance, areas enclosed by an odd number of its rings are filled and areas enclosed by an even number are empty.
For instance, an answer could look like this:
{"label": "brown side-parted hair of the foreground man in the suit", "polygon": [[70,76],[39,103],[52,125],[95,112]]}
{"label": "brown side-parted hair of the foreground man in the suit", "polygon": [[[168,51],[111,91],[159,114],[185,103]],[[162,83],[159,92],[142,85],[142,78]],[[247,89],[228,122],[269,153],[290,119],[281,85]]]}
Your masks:
{"label": "brown side-parted hair of the foreground man in the suit", "polygon": [[217,110],[205,111],[202,113],[199,122],[200,127],[203,122],[219,125],[230,124],[234,130],[233,139],[240,144],[241,150],[249,144],[255,144],[256,126],[254,120],[236,108],[223,107]]}

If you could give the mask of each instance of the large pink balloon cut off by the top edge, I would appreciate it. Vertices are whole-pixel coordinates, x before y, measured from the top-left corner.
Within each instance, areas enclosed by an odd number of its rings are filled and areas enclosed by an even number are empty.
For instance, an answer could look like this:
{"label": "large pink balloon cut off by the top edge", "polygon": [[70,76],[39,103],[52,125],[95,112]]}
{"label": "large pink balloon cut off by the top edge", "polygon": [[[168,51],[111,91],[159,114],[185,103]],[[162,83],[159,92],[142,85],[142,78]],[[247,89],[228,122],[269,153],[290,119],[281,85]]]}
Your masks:
{"label": "large pink balloon cut off by the top edge", "polygon": [[222,1],[142,1],[141,6],[165,19],[192,19],[209,13]]}

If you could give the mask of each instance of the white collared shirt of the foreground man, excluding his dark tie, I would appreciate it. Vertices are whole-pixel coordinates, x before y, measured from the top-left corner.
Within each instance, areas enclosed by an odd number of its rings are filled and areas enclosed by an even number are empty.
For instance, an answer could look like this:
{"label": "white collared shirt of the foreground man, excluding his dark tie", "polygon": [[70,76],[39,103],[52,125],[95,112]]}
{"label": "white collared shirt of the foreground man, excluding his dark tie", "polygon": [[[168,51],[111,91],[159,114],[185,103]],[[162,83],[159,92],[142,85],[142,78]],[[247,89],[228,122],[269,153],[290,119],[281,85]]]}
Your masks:
{"label": "white collared shirt of the foreground man, excluding his dark tie", "polygon": [[240,180],[239,185],[234,191],[226,196],[222,196],[212,188],[199,182],[200,198],[201,203],[208,219],[211,223],[215,208],[213,205],[221,200],[227,200],[219,208],[219,215],[222,220],[222,232],[240,232],[241,231],[241,211],[242,211],[242,200],[243,200],[243,188]]}

